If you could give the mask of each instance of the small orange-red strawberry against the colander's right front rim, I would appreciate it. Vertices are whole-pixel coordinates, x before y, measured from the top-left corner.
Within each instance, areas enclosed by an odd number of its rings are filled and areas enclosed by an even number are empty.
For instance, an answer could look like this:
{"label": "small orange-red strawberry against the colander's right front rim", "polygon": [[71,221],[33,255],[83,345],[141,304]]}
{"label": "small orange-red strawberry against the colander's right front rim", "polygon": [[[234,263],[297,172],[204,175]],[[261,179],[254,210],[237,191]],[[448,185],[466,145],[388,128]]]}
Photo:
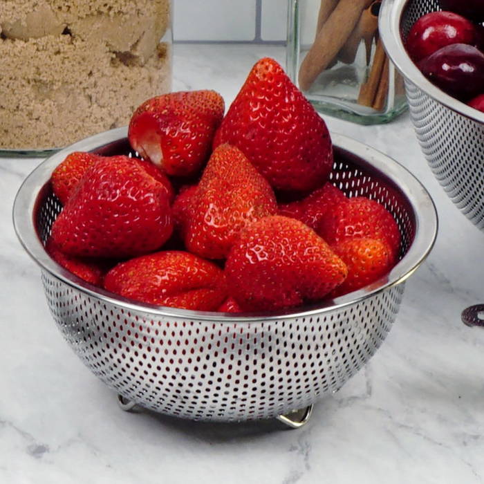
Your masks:
{"label": "small orange-red strawberry against the colander's right front rim", "polygon": [[393,268],[393,254],[389,245],[378,239],[344,239],[331,248],[348,267],[348,277],[333,290],[333,297],[364,288]]}

